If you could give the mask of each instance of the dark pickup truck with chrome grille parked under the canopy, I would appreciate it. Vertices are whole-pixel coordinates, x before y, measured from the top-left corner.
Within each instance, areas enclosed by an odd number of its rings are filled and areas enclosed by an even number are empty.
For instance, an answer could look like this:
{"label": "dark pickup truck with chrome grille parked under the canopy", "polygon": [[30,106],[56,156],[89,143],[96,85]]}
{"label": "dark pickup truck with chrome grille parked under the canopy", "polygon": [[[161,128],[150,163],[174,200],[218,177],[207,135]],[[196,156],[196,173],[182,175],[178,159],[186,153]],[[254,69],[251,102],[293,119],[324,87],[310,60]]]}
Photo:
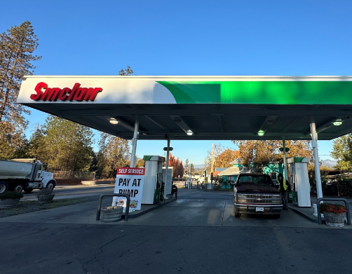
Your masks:
{"label": "dark pickup truck with chrome grille parked under the canopy", "polygon": [[243,173],[233,187],[233,214],[272,214],[280,217],[280,192],[267,174]]}

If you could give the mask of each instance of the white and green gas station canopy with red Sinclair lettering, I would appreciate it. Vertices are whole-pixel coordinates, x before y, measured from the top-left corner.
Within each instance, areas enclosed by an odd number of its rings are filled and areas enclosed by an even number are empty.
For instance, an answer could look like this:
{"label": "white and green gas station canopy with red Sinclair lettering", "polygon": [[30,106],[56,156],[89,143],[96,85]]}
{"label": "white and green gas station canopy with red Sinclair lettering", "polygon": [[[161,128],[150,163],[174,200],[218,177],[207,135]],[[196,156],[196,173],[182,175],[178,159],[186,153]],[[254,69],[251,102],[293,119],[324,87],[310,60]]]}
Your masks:
{"label": "white and green gas station canopy with red Sinclair lettering", "polygon": [[352,131],[352,76],[26,76],[18,102],[126,139],[318,139]]}

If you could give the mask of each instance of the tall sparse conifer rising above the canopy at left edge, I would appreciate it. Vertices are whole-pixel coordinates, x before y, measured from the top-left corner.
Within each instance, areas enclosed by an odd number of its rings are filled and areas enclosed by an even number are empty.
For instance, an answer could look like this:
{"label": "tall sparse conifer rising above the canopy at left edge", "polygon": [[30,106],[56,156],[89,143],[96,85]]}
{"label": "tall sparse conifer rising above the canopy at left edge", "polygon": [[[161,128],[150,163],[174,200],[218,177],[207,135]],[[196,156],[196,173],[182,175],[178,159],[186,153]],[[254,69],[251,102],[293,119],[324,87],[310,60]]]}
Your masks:
{"label": "tall sparse conifer rising above the canopy at left edge", "polygon": [[38,39],[30,22],[0,34],[0,158],[13,158],[24,152],[28,122],[23,114],[29,111],[16,101],[23,76],[32,75],[32,62],[41,59],[33,55],[37,47]]}

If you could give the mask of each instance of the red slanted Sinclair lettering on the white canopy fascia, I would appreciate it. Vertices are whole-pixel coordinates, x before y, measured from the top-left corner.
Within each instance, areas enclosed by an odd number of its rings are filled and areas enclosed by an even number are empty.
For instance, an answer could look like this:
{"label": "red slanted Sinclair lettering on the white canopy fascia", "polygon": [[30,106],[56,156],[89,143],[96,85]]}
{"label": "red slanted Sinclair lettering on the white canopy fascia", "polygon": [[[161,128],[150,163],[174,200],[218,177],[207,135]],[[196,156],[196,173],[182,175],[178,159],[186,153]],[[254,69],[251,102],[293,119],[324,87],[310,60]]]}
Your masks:
{"label": "red slanted Sinclair lettering on the white canopy fascia", "polygon": [[34,88],[35,94],[31,95],[34,101],[94,101],[102,88],[81,88],[80,83],[75,83],[71,88],[48,88],[46,83],[38,83]]}

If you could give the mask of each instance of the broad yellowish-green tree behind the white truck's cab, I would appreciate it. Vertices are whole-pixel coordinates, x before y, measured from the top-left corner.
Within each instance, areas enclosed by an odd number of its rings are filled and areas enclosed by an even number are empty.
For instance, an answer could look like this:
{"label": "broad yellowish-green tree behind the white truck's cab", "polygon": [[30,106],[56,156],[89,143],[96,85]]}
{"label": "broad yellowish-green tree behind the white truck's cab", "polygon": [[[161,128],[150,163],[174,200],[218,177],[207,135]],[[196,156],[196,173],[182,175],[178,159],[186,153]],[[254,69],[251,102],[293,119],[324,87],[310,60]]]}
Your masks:
{"label": "broad yellowish-green tree behind the white truck's cab", "polygon": [[50,169],[87,171],[93,159],[93,136],[92,130],[84,125],[48,116],[43,133],[34,132],[29,150]]}

